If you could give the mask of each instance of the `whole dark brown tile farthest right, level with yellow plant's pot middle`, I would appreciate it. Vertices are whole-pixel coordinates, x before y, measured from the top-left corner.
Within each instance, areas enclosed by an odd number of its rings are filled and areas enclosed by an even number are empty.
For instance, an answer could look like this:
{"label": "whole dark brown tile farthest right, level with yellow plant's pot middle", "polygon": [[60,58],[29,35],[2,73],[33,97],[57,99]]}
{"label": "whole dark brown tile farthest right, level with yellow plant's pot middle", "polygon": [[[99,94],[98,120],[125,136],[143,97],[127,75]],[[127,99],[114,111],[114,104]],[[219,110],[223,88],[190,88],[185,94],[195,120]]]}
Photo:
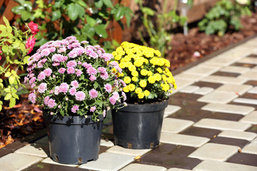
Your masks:
{"label": "whole dark brown tile farthest right, level with yellow plant's pot middle", "polygon": [[233,113],[211,112],[211,113],[208,113],[208,115],[206,115],[206,118],[238,121],[241,118],[243,118],[243,115],[233,114]]}

